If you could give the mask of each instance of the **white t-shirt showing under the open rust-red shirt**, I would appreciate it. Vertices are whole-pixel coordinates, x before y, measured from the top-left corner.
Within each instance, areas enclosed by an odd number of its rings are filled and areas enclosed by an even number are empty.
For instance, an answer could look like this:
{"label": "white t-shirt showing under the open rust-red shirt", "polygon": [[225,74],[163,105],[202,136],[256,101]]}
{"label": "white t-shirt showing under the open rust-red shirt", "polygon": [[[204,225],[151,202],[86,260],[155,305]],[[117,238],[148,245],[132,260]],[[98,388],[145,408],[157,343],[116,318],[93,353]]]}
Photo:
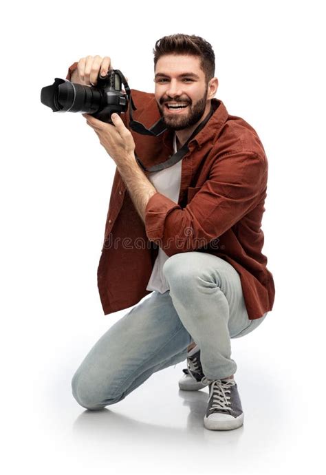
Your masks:
{"label": "white t-shirt showing under the open rust-red shirt", "polygon": [[[173,149],[174,153],[177,153],[177,136],[174,134],[173,138]],[[160,171],[155,171],[149,175],[149,180],[153,186],[162,193],[162,195],[167,196],[170,200],[178,202],[179,193],[180,193],[180,183],[181,183],[181,169],[182,169],[182,160],[175,163],[172,167],[165,168]],[[169,259],[169,256],[158,248],[158,254],[154,262],[153,271],[151,277],[149,277],[149,282],[147,284],[147,291],[159,291],[164,293],[169,291],[169,285],[164,279],[162,274],[162,267],[164,262]]]}

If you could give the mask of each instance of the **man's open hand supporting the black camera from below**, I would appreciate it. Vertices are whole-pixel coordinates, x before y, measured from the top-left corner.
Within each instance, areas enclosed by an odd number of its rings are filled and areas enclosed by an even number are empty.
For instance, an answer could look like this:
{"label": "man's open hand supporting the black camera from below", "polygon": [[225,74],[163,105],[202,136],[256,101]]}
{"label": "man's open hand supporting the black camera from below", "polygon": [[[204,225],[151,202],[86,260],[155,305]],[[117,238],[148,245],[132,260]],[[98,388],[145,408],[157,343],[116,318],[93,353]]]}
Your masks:
{"label": "man's open hand supporting the black camera from below", "polygon": [[118,114],[112,114],[113,125],[102,122],[89,114],[82,114],[100,139],[100,144],[116,162],[117,167],[127,160],[135,161],[135,142]]}

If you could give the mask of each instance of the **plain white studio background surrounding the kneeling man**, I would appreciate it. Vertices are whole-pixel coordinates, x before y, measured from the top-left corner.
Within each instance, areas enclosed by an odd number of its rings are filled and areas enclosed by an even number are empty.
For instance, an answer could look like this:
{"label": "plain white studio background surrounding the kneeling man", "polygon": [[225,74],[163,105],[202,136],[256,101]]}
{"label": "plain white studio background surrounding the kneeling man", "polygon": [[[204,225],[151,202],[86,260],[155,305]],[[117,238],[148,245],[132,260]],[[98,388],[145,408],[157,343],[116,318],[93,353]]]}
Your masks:
{"label": "plain white studio background surrounding the kneeling man", "polygon": [[[325,441],[325,17],[323,2],[16,2],[1,11],[1,463],[3,473],[320,472]],[[114,162],[80,114],[41,87],[88,54],[153,92],[155,41],[215,50],[217,98],[269,160],[263,231],[276,299],[232,341],[245,423],[205,430],[208,393],[179,392],[184,363],[104,412],[72,376],[127,310],[96,286]],[[323,218],[324,217],[324,218]],[[111,470],[111,472],[110,472]]]}

